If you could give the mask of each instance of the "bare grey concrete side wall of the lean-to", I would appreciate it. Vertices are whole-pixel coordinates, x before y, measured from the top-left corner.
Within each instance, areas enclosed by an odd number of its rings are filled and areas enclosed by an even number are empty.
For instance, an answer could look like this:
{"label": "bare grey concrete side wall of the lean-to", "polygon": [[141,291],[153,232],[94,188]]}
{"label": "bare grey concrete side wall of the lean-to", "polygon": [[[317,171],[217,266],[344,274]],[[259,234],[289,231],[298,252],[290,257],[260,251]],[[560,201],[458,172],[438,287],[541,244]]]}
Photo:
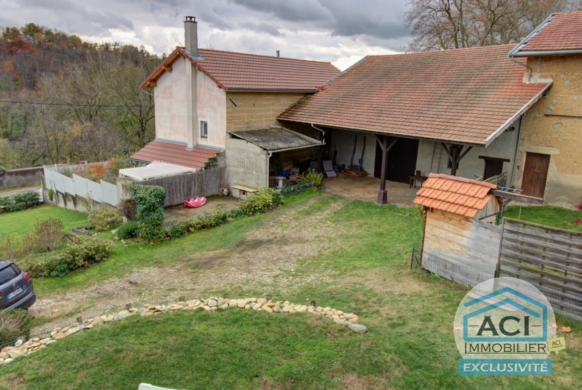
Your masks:
{"label": "bare grey concrete side wall of the lean-to", "polygon": [[226,180],[229,186],[268,187],[268,152],[243,139],[226,139]]}

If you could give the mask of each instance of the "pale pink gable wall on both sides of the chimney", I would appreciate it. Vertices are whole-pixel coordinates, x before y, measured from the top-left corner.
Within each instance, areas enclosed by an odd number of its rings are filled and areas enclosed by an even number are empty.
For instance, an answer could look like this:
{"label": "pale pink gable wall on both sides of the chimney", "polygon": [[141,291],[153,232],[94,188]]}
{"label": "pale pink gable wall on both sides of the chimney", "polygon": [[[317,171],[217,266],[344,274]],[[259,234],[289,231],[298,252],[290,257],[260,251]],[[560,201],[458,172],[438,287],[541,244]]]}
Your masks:
{"label": "pale pink gable wall on both sides of the chimney", "polygon": [[[187,83],[186,66],[190,62],[178,59],[172,71],[166,71],[158,79],[154,89],[155,137],[169,141],[187,142]],[[194,134],[198,145],[225,147],[226,140],[226,92],[200,71],[197,73],[198,126]],[[208,139],[200,138],[200,121],[208,122]]]}

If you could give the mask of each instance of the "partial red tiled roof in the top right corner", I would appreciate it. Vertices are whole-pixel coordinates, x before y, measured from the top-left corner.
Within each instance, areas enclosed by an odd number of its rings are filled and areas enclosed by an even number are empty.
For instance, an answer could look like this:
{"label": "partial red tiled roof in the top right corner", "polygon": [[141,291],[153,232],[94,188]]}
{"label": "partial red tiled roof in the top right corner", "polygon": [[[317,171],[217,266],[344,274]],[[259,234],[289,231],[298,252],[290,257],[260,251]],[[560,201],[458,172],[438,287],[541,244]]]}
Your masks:
{"label": "partial red tiled roof in the top right corner", "polygon": [[577,49],[582,50],[582,11],[554,13],[521,41],[512,55]]}

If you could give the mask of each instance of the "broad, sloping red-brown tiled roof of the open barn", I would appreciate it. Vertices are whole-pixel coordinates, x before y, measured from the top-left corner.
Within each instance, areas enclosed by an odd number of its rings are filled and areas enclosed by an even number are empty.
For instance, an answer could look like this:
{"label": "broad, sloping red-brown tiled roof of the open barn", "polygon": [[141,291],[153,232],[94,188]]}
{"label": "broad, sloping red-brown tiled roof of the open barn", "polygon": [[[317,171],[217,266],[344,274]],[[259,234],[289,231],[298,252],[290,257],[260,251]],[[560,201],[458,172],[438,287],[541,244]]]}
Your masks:
{"label": "broad, sloping red-brown tiled roof of the open barn", "polygon": [[549,84],[524,84],[513,46],[368,56],[279,119],[490,144]]}

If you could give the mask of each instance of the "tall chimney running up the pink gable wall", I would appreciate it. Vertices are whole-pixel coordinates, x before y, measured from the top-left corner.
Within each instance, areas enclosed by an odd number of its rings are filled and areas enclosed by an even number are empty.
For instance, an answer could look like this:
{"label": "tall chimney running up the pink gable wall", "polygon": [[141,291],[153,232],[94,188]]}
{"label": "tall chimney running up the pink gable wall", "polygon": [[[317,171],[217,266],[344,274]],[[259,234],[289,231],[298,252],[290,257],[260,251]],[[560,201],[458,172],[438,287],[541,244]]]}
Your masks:
{"label": "tall chimney running up the pink gable wall", "polygon": [[[198,56],[198,23],[196,17],[186,16],[184,19],[184,47],[196,58]],[[196,65],[186,60],[186,133],[188,135],[188,149],[198,144],[198,83]]]}

